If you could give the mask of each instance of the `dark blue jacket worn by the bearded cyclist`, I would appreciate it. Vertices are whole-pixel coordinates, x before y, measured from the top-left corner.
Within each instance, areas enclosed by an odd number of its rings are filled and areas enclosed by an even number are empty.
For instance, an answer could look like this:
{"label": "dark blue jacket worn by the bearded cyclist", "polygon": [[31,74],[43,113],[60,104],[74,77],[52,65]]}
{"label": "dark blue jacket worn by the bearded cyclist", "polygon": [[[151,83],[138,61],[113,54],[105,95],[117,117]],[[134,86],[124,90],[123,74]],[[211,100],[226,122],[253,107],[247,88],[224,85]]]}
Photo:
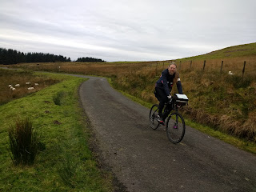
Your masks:
{"label": "dark blue jacket worn by the bearded cyclist", "polygon": [[[168,96],[170,94],[170,91],[172,90],[176,73],[178,72],[175,72],[173,75],[170,75],[168,69],[163,70],[161,77],[158,79],[158,81],[155,84],[156,87],[165,91],[166,96]],[[178,81],[176,84],[177,84],[178,94],[183,94],[182,82],[180,81],[179,74],[178,74]]]}

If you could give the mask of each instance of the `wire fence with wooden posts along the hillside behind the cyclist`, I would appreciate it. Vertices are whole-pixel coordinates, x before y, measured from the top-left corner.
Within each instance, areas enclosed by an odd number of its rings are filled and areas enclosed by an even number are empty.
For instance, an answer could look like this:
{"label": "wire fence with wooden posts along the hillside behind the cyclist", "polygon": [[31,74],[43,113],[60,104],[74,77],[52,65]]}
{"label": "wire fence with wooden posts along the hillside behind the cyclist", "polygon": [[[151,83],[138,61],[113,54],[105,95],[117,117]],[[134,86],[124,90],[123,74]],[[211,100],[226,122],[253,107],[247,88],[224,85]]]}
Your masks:
{"label": "wire fence with wooden posts along the hillside behind the cyclist", "polygon": [[[209,60],[190,60],[190,61],[163,61],[149,62],[149,65],[134,67],[134,75],[139,73],[154,73],[159,76],[162,70],[168,68],[171,62],[176,62],[178,71],[201,71],[214,74],[230,74],[242,78],[256,78],[256,59],[255,58],[236,58],[236,59],[209,59]],[[143,71],[143,72],[142,72]]]}

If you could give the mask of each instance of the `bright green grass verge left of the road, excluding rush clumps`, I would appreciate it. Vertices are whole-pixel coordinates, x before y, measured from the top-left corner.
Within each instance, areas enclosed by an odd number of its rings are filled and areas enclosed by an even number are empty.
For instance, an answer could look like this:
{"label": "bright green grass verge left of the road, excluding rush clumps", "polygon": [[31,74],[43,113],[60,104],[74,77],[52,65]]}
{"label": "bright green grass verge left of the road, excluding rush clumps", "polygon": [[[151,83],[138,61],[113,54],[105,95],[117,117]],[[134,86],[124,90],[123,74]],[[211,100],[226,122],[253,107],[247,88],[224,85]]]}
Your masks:
{"label": "bright green grass verge left of the road, excluding rush clumps", "polygon": [[[45,74],[62,82],[0,106],[0,191],[111,191],[112,176],[98,168],[88,141],[87,119],[78,103],[84,78]],[[61,105],[54,94],[62,91]],[[17,118],[30,118],[45,150],[34,166],[14,166],[7,130]]]}

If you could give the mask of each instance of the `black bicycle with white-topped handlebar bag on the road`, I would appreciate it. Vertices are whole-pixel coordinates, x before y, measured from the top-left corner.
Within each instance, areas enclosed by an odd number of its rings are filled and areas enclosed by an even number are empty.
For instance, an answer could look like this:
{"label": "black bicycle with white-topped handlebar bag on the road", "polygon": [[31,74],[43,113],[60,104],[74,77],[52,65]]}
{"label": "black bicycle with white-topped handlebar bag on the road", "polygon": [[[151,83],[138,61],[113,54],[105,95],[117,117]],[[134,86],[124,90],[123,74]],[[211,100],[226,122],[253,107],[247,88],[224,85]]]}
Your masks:
{"label": "black bicycle with white-topped handlebar bag on the road", "polygon": [[[165,104],[164,113],[168,113],[166,120],[166,134],[170,142],[178,143],[184,138],[186,124],[182,114],[178,113],[178,108],[185,106],[187,102],[188,98],[186,97],[186,94],[174,94],[174,96]],[[168,104],[172,106],[170,111],[168,111],[169,109],[166,109]],[[161,125],[161,123],[158,122],[158,108],[158,104],[154,104],[150,109],[150,127],[153,130],[158,129]],[[173,112],[171,113],[171,111]]]}

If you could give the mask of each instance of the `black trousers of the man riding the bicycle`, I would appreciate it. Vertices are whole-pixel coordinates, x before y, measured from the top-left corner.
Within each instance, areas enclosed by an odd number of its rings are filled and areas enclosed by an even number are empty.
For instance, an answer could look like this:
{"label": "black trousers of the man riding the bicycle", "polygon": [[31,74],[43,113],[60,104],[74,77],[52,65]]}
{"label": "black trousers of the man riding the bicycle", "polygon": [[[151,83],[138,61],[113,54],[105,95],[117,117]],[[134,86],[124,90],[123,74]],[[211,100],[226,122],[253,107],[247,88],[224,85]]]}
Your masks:
{"label": "black trousers of the man riding the bicycle", "polygon": [[155,87],[155,96],[156,96],[156,98],[158,98],[158,101],[159,101],[158,114],[162,119],[165,119],[171,110],[171,105],[168,104],[166,106],[165,113],[162,114],[163,107],[165,106],[165,103],[168,102],[166,92],[165,92],[165,90]]}

